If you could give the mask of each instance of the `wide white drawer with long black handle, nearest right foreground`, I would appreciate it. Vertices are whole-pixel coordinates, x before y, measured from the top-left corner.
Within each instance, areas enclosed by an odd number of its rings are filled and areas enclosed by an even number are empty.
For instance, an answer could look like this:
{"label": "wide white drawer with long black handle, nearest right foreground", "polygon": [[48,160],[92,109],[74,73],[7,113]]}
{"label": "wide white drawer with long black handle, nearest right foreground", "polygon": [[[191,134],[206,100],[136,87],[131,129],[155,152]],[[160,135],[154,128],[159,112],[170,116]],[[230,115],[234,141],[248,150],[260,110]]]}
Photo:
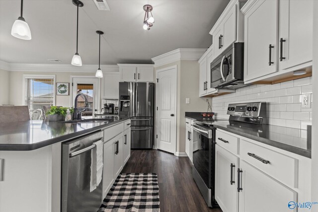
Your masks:
{"label": "wide white drawer with long black handle, nearest right foreground", "polygon": [[239,155],[278,181],[298,187],[298,159],[244,140],[239,143]]}

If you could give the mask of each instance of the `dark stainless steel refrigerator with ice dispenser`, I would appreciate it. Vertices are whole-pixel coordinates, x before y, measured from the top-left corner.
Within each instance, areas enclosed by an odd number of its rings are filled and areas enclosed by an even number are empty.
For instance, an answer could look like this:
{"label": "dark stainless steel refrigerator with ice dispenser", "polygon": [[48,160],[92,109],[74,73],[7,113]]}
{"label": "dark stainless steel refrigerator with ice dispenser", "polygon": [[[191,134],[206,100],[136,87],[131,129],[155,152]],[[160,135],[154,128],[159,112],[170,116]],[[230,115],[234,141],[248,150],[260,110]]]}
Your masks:
{"label": "dark stainless steel refrigerator with ice dispenser", "polygon": [[153,82],[119,82],[119,116],[131,116],[131,148],[153,148]]}

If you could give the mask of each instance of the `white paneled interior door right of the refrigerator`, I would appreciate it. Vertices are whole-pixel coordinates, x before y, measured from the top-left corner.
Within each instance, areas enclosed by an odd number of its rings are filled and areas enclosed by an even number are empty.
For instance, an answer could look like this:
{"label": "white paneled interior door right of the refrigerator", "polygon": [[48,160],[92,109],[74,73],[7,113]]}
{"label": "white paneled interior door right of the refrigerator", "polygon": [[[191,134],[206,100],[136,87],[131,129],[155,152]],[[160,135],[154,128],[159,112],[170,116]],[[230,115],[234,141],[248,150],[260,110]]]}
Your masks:
{"label": "white paneled interior door right of the refrigerator", "polygon": [[176,66],[157,71],[157,148],[171,153],[176,149],[176,73]]}

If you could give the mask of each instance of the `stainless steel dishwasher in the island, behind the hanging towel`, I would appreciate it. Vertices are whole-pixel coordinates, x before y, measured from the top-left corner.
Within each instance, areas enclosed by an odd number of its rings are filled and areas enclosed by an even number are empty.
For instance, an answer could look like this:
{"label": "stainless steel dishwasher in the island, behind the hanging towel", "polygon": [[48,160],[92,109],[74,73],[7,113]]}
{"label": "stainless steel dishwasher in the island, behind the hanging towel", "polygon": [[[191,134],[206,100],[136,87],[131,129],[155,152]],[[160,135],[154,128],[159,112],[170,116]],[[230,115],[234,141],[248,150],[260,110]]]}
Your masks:
{"label": "stainless steel dishwasher in the island, behind the hanging towel", "polygon": [[62,212],[97,212],[102,201],[102,181],[90,192],[91,150],[103,132],[62,143]]}

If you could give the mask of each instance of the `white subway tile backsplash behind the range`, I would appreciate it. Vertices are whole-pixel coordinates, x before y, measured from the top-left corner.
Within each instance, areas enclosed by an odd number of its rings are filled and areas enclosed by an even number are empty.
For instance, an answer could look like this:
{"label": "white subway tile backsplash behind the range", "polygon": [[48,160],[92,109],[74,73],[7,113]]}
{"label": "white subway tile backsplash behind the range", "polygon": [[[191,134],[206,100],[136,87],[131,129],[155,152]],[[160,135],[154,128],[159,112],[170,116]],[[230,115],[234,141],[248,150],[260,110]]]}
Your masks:
{"label": "white subway tile backsplash behind the range", "polygon": [[212,111],[217,117],[229,118],[229,103],[263,101],[267,103],[268,124],[307,130],[307,125],[312,125],[315,104],[312,108],[302,108],[301,95],[313,93],[312,82],[312,77],[305,77],[273,85],[242,87],[235,93],[213,97]]}

